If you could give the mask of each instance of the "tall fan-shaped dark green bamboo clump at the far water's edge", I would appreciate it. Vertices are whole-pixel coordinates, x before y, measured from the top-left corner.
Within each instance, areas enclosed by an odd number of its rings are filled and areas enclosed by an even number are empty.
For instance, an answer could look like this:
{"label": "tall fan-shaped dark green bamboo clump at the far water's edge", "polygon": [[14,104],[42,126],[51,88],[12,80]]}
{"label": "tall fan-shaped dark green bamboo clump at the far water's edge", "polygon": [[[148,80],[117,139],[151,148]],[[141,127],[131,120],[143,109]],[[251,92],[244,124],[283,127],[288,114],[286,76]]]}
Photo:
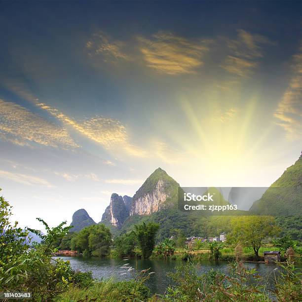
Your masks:
{"label": "tall fan-shaped dark green bamboo clump at the far water's edge", "polygon": [[155,235],[159,225],[153,222],[148,224],[143,222],[140,225],[134,225],[134,227],[135,230],[133,232],[142,250],[143,258],[149,258],[155,245]]}

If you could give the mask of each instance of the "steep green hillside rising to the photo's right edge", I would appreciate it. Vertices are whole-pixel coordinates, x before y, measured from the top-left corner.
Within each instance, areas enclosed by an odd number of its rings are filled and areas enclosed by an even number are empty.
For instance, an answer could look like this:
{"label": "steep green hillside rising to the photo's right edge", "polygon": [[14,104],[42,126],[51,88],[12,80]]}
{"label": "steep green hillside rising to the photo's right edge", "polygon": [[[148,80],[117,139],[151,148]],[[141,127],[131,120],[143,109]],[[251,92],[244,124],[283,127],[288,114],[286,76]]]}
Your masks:
{"label": "steep green hillside rising to the photo's right edge", "polygon": [[261,215],[302,215],[302,155],[254,202],[250,212]]}

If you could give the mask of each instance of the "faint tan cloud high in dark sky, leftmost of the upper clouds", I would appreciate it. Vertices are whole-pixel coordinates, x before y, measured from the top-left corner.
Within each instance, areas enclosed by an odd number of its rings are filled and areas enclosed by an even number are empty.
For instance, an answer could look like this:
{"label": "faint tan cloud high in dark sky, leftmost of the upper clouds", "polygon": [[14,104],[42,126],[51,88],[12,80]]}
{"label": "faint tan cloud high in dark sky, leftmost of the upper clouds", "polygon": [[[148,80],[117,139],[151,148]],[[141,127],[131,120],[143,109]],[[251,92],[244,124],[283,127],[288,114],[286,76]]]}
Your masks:
{"label": "faint tan cloud high in dark sky, leftmost of the upper clouds", "polygon": [[130,57],[122,50],[125,47],[125,43],[113,40],[103,32],[94,34],[86,43],[88,55],[102,55],[105,62],[110,61],[111,63],[131,60]]}

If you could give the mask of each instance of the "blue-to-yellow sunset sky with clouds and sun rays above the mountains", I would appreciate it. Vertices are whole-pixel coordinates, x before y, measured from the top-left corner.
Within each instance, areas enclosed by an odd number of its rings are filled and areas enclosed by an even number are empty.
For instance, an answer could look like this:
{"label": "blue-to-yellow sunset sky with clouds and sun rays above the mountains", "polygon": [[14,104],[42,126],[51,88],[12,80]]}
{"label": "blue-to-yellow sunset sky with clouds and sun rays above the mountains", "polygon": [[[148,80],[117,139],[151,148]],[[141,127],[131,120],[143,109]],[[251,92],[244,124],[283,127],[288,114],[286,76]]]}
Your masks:
{"label": "blue-to-yellow sunset sky with clouds and sun rays above the mountains", "polygon": [[302,151],[301,1],[1,1],[0,188],[101,220],[158,167],[267,187]]}

